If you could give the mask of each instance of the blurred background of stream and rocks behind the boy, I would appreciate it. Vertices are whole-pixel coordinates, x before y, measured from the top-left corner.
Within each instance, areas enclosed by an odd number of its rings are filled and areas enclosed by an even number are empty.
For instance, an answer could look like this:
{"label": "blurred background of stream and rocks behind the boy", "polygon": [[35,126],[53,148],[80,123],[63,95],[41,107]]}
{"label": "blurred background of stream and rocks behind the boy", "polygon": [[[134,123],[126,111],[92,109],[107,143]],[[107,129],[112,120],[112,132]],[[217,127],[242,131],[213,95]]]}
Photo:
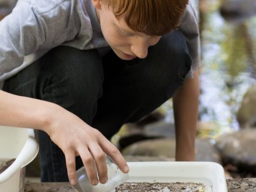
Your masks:
{"label": "blurred background of stream and rocks behind the boy", "polygon": [[[201,34],[196,161],[224,166],[227,178],[256,175],[256,1],[192,0]],[[16,0],[0,0],[0,19]],[[127,161],[174,161],[172,100],[112,138]],[[28,177],[39,176],[37,157]]]}

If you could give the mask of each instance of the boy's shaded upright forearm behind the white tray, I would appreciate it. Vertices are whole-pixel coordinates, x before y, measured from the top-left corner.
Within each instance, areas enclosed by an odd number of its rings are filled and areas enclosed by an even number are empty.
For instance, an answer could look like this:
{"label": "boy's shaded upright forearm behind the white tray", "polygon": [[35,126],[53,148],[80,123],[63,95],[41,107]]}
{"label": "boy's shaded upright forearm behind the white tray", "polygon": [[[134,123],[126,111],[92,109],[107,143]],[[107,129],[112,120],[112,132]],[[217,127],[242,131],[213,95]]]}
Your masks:
{"label": "boy's shaded upright forearm behind the white tray", "polygon": [[173,97],[176,127],[176,161],[195,161],[195,137],[198,120],[198,72],[187,79]]}

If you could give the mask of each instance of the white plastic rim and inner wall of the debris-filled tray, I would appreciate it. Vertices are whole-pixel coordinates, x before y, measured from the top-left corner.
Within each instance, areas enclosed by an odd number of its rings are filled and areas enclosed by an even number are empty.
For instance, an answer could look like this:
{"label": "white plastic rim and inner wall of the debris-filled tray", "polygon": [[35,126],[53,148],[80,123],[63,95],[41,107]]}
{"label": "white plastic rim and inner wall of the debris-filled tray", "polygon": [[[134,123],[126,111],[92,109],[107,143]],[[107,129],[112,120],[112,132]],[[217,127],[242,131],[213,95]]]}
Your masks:
{"label": "white plastic rim and inner wall of the debris-filled tray", "polygon": [[227,192],[223,167],[213,162],[129,162],[127,182],[193,182],[205,185],[205,192]]}

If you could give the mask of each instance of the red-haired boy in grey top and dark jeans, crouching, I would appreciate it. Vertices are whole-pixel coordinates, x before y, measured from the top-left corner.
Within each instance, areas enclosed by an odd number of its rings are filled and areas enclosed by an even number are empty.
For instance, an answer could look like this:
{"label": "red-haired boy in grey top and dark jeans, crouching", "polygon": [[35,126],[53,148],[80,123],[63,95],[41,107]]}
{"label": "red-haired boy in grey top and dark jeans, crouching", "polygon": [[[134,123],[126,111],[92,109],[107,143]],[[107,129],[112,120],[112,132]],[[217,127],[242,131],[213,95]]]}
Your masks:
{"label": "red-haired boy in grey top and dark jeans, crouching", "polygon": [[75,184],[84,165],[105,183],[105,154],[127,173],[110,137],[171,97],[176,161],[195,160],[199,44],[187,4],[20,0],[0,22],[0,124],[39,130],[41,181]]}

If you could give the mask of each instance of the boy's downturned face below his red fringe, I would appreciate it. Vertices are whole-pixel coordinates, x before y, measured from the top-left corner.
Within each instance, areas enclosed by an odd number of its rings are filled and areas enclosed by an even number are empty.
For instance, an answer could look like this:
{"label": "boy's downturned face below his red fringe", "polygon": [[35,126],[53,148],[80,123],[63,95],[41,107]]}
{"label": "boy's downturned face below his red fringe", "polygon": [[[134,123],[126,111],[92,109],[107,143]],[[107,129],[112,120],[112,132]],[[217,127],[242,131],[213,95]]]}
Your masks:
{"label": "boy's downturned face below his red fringe", "polygon": [[109,7],[100,0],[94,0],[93,3],[105,40],[122,60],[146,58],[149,46],[156,45],[160,40],[160,36],[149,36],[132,31],[125,24],[124,15],[117,20]]}

